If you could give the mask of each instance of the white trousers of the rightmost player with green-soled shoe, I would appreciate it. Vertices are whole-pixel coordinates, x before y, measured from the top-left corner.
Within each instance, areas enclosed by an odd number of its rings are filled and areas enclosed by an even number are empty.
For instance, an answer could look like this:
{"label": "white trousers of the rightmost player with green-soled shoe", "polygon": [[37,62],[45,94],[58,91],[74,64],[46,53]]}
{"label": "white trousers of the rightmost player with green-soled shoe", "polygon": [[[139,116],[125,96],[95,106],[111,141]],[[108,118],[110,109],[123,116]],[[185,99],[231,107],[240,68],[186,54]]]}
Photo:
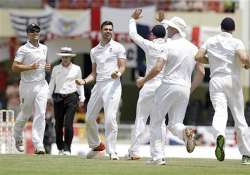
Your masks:
{"label": "white trousers of the rightmost player with green-soled shoe", "polygon": [[225,136],[228,113],[230,108],[237,132],[237,143],[242,155],[250,156],[250,137],[244,116],[244,99],[240,79],[232,76],[212,77],[209,82],[210,98],[215,110],[213,129],[215,138]]}

